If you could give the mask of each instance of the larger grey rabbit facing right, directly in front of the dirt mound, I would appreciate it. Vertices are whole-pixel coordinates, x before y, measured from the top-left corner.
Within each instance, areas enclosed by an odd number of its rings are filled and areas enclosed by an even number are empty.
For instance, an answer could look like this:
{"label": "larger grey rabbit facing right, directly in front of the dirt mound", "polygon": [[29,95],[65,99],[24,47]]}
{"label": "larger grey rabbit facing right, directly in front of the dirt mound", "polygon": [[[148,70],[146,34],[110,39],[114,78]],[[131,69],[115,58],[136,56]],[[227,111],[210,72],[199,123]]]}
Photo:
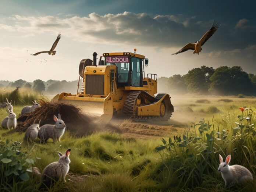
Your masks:
{"label": "larger grey rabbit facing right, directly in front of the dirt mound", "polygon": [[53,143],[55,143],[57,140],[60,141],[60,137],[64,134],[66,125],[64,121],[61,120],[60,114],[58,114],[58,118],[53,115],[53,120],[56,122],[55,125],[43,125],[38,131],[40,143],[46,143],[50,138],[53,139]]}

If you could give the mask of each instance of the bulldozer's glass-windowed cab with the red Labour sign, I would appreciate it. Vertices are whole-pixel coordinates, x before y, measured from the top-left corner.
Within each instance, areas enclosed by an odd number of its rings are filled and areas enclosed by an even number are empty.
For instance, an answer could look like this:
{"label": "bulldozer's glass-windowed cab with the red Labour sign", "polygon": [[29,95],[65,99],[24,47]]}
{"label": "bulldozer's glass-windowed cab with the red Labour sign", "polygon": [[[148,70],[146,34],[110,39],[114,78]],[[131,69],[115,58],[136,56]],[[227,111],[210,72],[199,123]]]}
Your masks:
{"label": "bulldozer's glass-windowed cab with the red Labour sign", "polygon": [[[118,53],[117,53],[118,54]],[[137,55],[137,54],[136,54]],[[106,56],[106,65],[117,66],[117,87],[143,87],[143,60],[144,58],[131,55]],[[104,56],[104,54],[103,54]]]}

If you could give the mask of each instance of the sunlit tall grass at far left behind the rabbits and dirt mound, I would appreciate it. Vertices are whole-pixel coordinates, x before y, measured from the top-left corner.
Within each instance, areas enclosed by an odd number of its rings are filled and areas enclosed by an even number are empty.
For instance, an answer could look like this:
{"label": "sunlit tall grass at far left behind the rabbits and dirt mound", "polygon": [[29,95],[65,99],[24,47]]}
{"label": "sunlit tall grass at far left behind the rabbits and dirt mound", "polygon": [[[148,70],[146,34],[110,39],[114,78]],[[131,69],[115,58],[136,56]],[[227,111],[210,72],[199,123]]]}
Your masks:
{"label": "sunlit tall grass at far left behind the rabbits and dirt mound", "polygon": [[0,88],[0,103],[6,102],[6,98],[9,102],[15,105],[32,105],[33,100],[39,100],[42,98],[40,93],[32,91],[31,89],[6,89]]}

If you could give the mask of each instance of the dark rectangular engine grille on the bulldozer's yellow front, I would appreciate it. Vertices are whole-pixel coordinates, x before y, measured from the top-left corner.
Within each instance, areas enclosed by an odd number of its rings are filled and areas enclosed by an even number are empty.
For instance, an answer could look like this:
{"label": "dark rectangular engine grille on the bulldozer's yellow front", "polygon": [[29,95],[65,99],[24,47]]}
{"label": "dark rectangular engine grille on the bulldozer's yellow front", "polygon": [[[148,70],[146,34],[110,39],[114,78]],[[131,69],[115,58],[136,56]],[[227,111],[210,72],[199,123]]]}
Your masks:
{"label": "dark rectangular engine grille on the bulldozer's yellow front", "polygon": [[85,75],[85,94],[104,95],[104,75]]}

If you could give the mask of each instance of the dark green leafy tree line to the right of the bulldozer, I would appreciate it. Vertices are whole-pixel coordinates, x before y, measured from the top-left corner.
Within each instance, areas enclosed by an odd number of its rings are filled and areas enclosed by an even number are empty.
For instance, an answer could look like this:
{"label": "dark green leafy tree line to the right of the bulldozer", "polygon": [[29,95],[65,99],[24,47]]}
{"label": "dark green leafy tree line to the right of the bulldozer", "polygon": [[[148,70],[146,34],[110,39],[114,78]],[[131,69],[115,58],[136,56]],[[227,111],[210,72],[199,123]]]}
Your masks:
{"label": "dark green leafy tree line to the right of the bulldozer", "polygon": [[256,75],[248,74],[240,66],[193,68],[185,75],[157,79],[160,92],[200,93],[203,95],[256,95]]}

